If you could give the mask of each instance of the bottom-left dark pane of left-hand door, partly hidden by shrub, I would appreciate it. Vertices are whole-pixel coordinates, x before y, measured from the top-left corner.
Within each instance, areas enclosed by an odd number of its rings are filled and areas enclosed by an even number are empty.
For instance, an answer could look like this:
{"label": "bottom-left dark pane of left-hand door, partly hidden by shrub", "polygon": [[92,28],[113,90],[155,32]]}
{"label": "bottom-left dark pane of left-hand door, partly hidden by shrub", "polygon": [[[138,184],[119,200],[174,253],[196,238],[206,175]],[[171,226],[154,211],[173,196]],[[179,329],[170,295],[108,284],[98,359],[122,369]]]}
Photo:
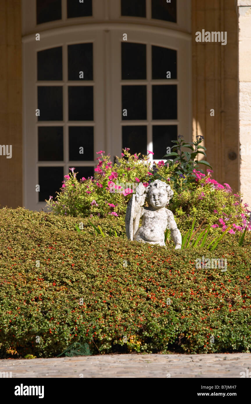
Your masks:
{"label": "bottom-left dark pane of left-hand door, partly hidden by shrub", "polygon": [[44,202],[62,187],[63,167],[38,167],[38,183],[40,185],[39,202]]}

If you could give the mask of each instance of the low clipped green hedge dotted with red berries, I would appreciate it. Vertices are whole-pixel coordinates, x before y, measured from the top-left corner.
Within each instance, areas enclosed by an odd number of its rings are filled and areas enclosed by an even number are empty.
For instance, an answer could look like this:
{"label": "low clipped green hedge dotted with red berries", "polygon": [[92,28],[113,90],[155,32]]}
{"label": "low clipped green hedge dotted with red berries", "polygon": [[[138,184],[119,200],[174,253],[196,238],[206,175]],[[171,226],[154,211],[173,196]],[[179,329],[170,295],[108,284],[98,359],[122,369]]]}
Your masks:
{"label": "low clipped green hedge dotted with red berries", "polygon": [[[90,235],[87,219],[0,210],[1,358],[57,356],[74,341],[93,353],[251,350],[249,234],[241,248],[229,235],[214,252],[165,250],[122,238],[117,218],[97,222],[121,237]],[[203,255],[227,258],[227,271],[196,269]]]}

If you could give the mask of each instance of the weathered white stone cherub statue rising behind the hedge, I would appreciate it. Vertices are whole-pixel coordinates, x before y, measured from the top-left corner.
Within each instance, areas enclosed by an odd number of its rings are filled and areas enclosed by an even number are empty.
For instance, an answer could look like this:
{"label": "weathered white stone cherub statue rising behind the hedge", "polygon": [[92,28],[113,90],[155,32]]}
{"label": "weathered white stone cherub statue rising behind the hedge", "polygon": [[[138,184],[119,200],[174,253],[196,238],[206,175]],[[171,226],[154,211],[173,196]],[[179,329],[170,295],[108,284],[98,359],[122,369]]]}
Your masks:
{"label": "weathered white stone cherub statue rising behind the hedge", "polygon": [[[129,200],[125,217],[128,240],[165,246],[165,229],[171,230],[175,249],[181,248],[181,234],[171,210],[165,208],[173,196],[167,183],[155,180],[145,188],[139,183],[135,194]],[[148,202],[148,207],[143,207]],[[142,225],[139,227],[139,219]]]}

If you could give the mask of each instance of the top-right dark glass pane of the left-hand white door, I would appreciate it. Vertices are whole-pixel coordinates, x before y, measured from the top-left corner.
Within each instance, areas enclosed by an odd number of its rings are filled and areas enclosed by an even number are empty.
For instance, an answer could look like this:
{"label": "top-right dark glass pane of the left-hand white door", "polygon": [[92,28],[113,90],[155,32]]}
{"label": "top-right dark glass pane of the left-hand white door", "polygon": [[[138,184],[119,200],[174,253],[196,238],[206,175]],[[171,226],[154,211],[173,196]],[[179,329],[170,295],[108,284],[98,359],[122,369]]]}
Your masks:
{"label": "top-right dark glass pane of the left-hand white door", "polygon": [[68,80],[93,80],[92,43],[68,45]]}

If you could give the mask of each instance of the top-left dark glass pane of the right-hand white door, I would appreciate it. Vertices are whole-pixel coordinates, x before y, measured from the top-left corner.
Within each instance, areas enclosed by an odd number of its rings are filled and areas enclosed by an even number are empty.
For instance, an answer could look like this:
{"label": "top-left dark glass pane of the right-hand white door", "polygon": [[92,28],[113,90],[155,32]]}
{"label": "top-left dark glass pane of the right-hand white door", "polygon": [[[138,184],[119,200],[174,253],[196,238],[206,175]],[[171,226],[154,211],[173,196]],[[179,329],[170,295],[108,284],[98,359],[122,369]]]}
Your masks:
{"label": "top-left dark glass pane of the right-hand white door", "polygon": [[121,42],[122,80],[146,80],[146,45]]}

